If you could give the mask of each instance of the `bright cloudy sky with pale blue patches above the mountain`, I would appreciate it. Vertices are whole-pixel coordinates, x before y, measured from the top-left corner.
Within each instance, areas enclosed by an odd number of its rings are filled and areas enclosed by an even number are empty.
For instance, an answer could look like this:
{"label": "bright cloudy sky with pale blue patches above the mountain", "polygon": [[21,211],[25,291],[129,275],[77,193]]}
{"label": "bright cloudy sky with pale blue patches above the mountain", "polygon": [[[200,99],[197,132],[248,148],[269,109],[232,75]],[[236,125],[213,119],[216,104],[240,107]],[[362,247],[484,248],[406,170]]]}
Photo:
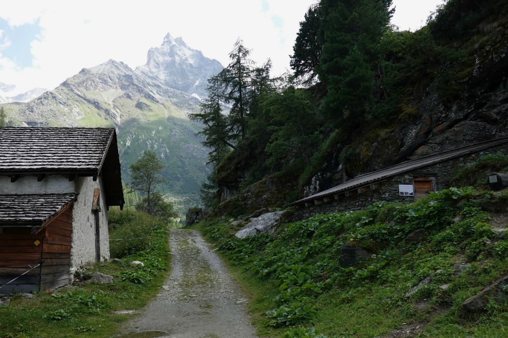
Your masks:
{"label": "bright cloudy sky with pale blue patches above the mountain", "polygon": [[[316,0],[17,0],[0,2],[0,83],[10,94],[53,89],[83,67],[109,59],[132,68],[164,36],[226,65],[237,38],[273,74],[289,69],[299,22]],[[443,0],[394,0],[392,24],[415,30]],[[2,85],[0,84],[0,90]],[[6,90],[6,89],[4,89]]]}

